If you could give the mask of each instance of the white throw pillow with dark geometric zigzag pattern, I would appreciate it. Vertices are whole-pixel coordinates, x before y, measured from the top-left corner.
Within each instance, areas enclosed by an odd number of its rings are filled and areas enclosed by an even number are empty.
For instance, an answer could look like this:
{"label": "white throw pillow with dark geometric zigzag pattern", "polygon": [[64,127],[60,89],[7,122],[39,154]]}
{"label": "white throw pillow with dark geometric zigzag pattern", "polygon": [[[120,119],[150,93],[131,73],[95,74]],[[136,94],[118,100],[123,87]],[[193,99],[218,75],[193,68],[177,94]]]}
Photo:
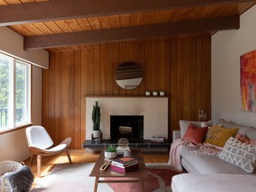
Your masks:
{"label": "white throw pillow with dark geometric zigzag pattern", "polygon": [[256,166],[256,145],[245,144],[230,137],[220,153],[220,158],[244,169],[254,172]]}

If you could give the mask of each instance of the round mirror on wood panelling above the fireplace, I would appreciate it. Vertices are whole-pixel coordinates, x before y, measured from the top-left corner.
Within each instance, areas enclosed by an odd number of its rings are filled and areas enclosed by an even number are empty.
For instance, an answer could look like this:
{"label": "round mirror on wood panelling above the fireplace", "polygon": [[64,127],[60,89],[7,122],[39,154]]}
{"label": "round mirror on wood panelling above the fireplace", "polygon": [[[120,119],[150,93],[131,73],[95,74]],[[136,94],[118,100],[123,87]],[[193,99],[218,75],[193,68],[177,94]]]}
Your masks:
{"label": "round mirror on wood panelling above the fireplace", "polygon": [[142,68],[140,65],[127,61],[116,68],[116,84],[125,90],[135,89],[142,81]]}

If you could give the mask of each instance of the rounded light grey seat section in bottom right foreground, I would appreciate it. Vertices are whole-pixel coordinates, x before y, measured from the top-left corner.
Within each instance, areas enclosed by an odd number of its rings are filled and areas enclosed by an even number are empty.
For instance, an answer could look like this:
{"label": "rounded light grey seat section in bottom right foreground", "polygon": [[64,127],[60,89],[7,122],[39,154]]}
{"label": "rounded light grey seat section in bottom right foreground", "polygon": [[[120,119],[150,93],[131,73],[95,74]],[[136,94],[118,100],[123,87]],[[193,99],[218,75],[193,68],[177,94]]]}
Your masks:
{"label": "rounded light grey seat section in bottom right foreground", "polygon": [[255,176],[251,175],[183,173],[172,177],[173,192],[253,192],[255,188]]}

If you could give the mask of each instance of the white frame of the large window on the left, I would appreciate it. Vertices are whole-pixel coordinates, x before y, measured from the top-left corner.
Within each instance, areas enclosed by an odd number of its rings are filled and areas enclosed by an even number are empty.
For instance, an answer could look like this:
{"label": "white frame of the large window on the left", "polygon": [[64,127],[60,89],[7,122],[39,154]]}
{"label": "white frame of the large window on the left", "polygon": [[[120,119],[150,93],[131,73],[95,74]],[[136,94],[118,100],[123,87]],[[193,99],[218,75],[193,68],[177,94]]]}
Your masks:
{"label": "white frame of the large window on the left", "polygon": [[[12,132],[29,125],[32,125],[32,65],[26,60],[20,60],[19,58],[13,57],[12,55],[5,54],[0,51],[0,57],[7,57],[9,60],[12,60],[9,63],[9,68],[11,71],[9,72],[10,80],[9,80],[9,91],[10,92],[10,100],[8,101],[8,108],[12,109],[11,118],[7,122],[7,127],[0,128],[0,134],[6,132]],[[26,122],[16,122],[16,66],[17,64],[25,65],[25,107],[26,110]],[[10,66],[11,65],[11,66]],[[9,116],[8,116],[9,118]],[[12,122],[10,124],[10,122]],[[8,125],[9,124],[9,125]]]}

